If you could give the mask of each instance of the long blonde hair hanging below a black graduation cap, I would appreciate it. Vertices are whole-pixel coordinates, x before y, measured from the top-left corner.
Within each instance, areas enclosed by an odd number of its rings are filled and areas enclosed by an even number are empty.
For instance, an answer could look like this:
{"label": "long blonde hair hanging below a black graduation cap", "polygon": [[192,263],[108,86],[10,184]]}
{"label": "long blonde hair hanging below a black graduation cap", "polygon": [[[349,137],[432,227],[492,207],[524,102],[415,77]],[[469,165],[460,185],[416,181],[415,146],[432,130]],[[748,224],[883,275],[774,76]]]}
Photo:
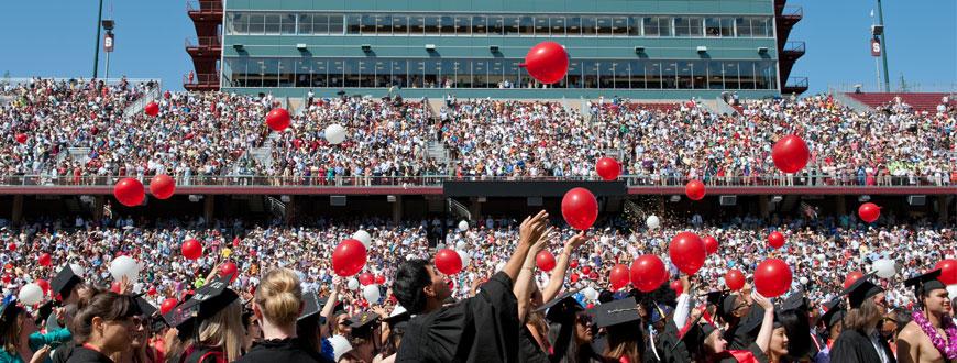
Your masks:
{"label": "long blonde hair hanging below a black graduation cap", "polygon": [[205,319],[199,326],[199,343],[222,348],[227,361],[233,362],[242,354],[243,339],[242,305],[239,300]]}

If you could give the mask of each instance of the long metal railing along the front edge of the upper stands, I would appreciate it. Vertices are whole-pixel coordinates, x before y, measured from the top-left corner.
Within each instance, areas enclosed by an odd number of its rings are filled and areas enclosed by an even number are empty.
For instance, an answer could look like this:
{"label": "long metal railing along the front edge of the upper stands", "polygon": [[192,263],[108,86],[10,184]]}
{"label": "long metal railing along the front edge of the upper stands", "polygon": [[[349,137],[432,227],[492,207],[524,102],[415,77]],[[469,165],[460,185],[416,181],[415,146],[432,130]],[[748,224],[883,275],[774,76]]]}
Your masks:
{"label": "long metal railing along the front edge of the upper stands", "polygon": [[[106,187],[122,176],[72,175],[6,175],[0,186],[35,187]],[[139,177],[144,184],[150,176]],[[256,187],[388,187],[441,186],[443,182],[597,182],[597,176],[255,176],[255,175],[193,175],[174,176],[178,187],[190,186],[256,186]],[[683,187],[688,178],[681,175],[626,175],[629,187]],[[957,180],[936,176],[877,176],[862,178],[853,174],[767,175],[767,176],[706,176],[703,183],[715,187],[948,187],[957,188]]]}

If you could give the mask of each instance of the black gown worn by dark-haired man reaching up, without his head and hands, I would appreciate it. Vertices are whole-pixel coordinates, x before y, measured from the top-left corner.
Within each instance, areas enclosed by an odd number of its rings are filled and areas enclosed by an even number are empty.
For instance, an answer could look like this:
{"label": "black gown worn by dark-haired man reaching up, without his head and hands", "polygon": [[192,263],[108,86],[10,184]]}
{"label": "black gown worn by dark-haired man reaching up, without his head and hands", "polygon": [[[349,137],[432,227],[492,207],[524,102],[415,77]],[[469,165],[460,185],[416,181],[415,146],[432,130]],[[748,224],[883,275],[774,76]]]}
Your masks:
{"label": "black gown worn by dark-haired man reaching up, without his head and hands", "polygon": [[477,295],[409,320],[396,362],[518,362],[518,302],[504,272]]}

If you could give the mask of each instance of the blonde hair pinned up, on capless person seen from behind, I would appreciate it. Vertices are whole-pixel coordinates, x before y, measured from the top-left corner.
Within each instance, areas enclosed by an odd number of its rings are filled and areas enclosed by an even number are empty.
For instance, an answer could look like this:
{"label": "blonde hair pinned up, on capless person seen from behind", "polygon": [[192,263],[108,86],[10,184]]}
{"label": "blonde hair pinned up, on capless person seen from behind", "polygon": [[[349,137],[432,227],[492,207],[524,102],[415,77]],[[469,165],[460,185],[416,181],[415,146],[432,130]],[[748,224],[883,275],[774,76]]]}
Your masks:
{"label": "blonde hair pinned up, on capless person seen from behind", "polygon": [[270,271],[256,288],[256,305],[270,322],[283,327],[295,324],[302,310],[299,277],[288,268]]}

